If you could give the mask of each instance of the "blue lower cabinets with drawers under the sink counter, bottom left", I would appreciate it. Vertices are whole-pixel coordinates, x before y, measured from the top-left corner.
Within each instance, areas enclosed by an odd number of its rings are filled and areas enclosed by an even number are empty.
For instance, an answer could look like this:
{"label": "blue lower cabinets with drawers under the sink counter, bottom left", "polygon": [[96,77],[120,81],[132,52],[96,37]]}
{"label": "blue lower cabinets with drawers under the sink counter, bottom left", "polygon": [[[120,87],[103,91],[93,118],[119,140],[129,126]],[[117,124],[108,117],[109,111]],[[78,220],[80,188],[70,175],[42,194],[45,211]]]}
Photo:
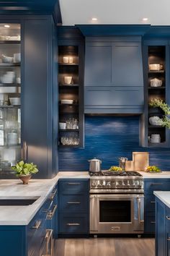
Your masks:
{"label": "blue lower cabinets with drawers under the sink counter, bottom left", "polygon": [[27,226],[0,226],[0,255],[53,256],[58,234],[57,186]]}

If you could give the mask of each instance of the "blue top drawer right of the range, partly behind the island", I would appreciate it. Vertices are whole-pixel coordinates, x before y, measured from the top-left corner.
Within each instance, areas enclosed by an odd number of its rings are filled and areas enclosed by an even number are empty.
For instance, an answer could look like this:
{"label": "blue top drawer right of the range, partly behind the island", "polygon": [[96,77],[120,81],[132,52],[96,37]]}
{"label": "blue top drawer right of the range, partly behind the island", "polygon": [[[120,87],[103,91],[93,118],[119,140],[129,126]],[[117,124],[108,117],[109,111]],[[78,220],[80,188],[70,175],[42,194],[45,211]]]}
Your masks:
{"label": "blue top drawer right of the range, partly behind the island", "polygon": [[166,191],[170,189],[170,181],[164,181],[162,179],[156,179],[151,182],[144,183],[145,194],[153,195],[153,191]]}

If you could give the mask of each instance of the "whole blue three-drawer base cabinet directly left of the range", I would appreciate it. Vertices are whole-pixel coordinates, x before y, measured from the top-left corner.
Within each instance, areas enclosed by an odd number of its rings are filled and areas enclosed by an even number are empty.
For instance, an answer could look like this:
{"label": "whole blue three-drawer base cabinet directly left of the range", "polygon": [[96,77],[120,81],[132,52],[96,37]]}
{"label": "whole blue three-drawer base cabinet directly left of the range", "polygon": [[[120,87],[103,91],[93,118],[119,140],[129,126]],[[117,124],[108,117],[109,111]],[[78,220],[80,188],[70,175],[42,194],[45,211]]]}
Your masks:
{"label": "whole blue three-drawer base cabinet directly left of the range", "polygon": [[89,234],[89,179],[60,179],[59,236]]}

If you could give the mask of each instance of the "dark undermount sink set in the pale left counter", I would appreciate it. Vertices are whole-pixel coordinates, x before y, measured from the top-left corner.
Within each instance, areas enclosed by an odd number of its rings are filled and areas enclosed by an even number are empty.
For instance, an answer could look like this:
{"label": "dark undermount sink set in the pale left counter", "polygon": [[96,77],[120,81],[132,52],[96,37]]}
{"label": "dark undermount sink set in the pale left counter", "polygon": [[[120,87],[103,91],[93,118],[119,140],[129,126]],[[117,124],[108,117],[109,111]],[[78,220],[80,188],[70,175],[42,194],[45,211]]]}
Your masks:
{"label": "dark undermount sink set in the pale left counter", "polygon": [[40,197],[27,197],[27,198],[0,198],[0,206],[12,205],[32,205]]}

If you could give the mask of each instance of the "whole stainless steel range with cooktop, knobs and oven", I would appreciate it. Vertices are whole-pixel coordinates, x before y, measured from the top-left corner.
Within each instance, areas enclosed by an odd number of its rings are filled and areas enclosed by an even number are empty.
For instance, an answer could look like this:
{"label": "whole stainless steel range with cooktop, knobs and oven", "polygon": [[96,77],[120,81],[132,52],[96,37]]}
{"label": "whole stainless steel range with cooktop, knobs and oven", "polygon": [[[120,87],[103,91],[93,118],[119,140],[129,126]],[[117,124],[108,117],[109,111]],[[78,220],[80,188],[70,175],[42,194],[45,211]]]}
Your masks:
{"label": "whole stainless steel range with cooktop, knobs and oven", "polygon": [[90,233],[142,234],[143,176],[136,171],[90,175]]}

